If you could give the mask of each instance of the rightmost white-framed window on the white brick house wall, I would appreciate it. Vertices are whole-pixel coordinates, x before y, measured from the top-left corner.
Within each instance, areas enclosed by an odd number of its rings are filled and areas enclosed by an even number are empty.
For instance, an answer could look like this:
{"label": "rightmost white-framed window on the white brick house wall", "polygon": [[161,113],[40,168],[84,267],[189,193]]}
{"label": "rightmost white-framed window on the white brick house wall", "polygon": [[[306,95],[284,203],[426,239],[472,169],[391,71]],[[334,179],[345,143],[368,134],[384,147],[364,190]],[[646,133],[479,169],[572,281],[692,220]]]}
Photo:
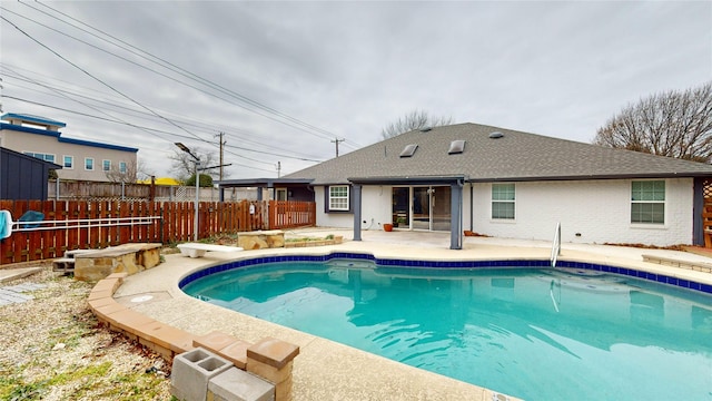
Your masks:
{"label": "rightmost white-framed window on the white brick house wall", "polygon": [[665,224],[664,180],[632,183],[631,223]]}

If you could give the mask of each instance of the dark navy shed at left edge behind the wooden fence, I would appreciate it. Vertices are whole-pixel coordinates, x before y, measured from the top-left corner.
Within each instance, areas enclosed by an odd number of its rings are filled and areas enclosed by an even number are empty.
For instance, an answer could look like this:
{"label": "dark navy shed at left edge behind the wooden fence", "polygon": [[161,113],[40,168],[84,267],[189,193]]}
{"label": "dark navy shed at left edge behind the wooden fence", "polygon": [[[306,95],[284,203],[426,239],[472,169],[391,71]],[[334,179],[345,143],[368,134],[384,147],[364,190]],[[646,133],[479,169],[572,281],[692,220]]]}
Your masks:
{"label": "dark navy shed at left edge behind the wooden fence", "polygon": [[49,170],[61,168],[53,163],[0,147],[0,199],[47,200]]}

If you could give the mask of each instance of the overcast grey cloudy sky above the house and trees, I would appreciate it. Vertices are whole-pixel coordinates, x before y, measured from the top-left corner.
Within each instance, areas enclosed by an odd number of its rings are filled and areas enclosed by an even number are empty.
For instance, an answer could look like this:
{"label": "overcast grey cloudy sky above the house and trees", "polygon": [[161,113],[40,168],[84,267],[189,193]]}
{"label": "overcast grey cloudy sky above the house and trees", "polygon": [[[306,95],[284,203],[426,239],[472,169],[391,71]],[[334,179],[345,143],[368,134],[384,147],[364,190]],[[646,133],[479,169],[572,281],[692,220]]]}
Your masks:
{"label": "overcast grey cloudy sky above the house and trees", "polygon": [[[0,1],[2,113],[274,178],[414,110],[591,143],[631,102],[712,80],[710,1]],[[338,143],[336,141],[338,139]]]}

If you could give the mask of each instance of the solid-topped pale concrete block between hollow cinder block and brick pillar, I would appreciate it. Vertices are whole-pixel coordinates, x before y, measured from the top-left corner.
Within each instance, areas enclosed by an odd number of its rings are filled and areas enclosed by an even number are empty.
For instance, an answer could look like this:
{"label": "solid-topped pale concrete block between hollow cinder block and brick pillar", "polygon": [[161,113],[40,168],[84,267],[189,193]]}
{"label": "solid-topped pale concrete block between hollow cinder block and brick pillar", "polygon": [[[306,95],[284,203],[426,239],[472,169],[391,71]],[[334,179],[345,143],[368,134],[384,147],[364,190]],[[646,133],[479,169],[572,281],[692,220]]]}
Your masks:
{"label": "solid-topped pale concrete block between hollow cinder block and brick pillar", "polygon": [[208,401],[274,401],[275,387],[237,368],[210,379]]}

